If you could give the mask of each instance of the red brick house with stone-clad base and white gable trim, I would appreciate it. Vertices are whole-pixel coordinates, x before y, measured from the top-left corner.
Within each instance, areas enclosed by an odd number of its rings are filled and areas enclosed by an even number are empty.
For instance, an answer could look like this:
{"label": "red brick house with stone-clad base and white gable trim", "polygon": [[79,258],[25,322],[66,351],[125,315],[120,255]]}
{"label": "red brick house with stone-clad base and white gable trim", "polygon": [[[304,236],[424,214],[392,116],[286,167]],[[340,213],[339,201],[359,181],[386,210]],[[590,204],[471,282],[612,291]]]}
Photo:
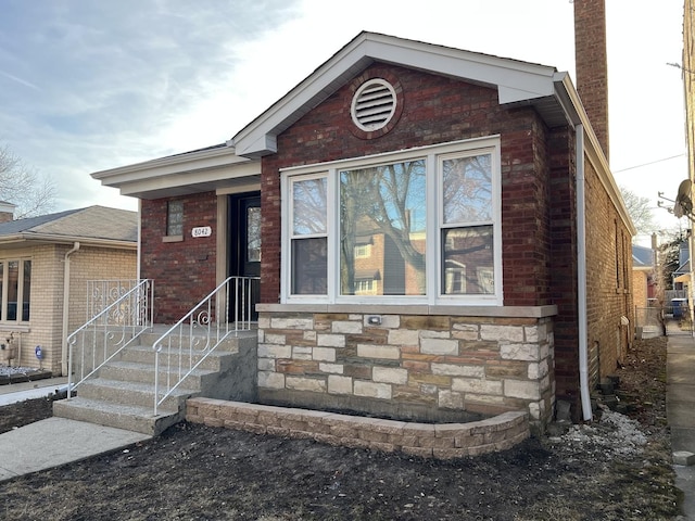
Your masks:
{"label": "red brick house with stone-clad base and white gable trim", "polygon": [[587,419],[632,339],[634,228],[582,74],[597,124],[554,67],[362,33],[228,142],[92,177],[141,200],[155,321],[261,276],[260,403]]}

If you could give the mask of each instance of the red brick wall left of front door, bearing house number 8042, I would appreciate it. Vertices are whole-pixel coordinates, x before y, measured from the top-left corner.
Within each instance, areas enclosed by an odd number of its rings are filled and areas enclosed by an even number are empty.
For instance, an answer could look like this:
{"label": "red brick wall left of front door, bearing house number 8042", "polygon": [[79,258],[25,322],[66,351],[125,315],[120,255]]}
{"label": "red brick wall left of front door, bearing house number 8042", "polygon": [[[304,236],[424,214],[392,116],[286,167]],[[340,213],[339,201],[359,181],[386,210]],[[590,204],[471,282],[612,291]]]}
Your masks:
{"label": "red brick wall left of front door, bearing house number 8042", "polygon": [[[172,198],[184,201],[184,240],[164,242],[166,203],[142,201],[141,277],[154,279],[155,322],[174,323],[215,289],[217,200],[213,192]],[[211,237],[193,238],[191,229],[212,227]]]}

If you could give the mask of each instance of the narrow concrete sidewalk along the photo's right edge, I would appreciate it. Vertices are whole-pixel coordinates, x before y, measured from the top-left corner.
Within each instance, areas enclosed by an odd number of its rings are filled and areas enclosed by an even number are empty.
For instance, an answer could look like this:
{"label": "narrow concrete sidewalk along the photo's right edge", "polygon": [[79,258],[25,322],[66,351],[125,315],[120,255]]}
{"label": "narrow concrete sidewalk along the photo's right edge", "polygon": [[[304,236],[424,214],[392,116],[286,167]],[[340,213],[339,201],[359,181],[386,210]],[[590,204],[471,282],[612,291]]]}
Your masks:
{"label": "narrow concrete sidewalk along the photo's right edge", "polygon": [[675,485],[684,493],[684,519],[695,520],[695,339],[690,333],[668,336],[666,374]]}

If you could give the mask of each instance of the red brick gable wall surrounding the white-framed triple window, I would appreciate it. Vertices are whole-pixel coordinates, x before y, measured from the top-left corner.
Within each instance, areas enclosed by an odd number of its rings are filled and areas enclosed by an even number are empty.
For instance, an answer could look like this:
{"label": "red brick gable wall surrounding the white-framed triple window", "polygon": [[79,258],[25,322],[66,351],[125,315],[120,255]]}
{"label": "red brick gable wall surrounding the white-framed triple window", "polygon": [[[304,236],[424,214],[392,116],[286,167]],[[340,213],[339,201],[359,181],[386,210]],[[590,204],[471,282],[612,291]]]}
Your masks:
{"label": "red brick gable wall surrounding the white-framed triple window", "polygon": [[[390,131],[357,131],[350,116],[356,88],[366,79],[391,81],[402,113]],[[543,124],[532,109],[508,109],[497,92],[402,67],[375,64],[278,137],[277,154],[263,158],[263,263],[261,302],[280,292],[281,167],[359,157],[448,141],[502,136],[505,305],[548,304],[549,232]]]}

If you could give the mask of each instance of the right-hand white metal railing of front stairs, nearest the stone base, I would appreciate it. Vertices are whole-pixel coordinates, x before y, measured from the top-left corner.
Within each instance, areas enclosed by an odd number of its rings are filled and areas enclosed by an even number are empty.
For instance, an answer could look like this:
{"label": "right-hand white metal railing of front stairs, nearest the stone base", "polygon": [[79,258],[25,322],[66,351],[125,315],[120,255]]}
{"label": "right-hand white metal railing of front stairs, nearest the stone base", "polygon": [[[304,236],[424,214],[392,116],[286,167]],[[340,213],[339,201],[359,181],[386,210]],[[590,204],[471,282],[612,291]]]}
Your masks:
{"label": "right-hand white metal railing of front stairs, nearest the stone base", "polygon": [[222,342],[252,328],[258,280],[229,277],[154,342],[154,416]]}

